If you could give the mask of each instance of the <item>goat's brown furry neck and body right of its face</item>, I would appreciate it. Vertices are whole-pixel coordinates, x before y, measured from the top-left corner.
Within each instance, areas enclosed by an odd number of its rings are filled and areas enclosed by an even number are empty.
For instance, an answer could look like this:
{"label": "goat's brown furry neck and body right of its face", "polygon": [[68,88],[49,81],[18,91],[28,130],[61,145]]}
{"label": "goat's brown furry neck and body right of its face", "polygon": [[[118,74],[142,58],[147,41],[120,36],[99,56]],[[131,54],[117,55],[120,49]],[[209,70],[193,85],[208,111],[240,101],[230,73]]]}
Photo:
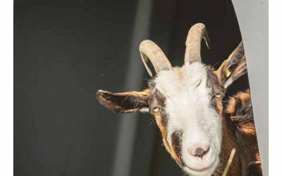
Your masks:
{"label": "goat's brown furry neck and body right of its face", "polygon": [[[236,102],[240,102],[240,104]],[[235,175],[235,173],[238,174],[239,172],[240,175],[247,175],[249,163],[260,161],[252,112],[244,112],[246,109],[252,108],[251,105],[250,92],[240,92],[231,97],[225,112],[223,112],[221,163],[227,162],[233,147],[236,149],[235,158],[228,171],[230,175]],[[248,113],[247,118],[249,119],[244,122],[243,119],[240,119],[240,113]],[[238,121],[238,119],[240,119],[240,121]],[[250,119],[252,120],[250,121]],[[261,172],[261,168],[258,172]]]}

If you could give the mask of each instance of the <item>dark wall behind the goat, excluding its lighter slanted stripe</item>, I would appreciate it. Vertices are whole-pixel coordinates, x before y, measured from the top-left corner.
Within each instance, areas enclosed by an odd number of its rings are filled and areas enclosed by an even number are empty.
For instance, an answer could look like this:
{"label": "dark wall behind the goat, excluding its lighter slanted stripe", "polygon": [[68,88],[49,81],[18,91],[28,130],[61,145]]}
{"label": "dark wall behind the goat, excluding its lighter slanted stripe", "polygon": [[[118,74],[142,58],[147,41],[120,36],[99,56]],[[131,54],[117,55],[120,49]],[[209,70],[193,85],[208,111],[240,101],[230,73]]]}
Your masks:
{"label": "dark wall behind the goat, excluding its lighter slanted stripe", "polygon": [[[130,90],[125,77],[137,6],[137,0],[15,1],[15,175],[114,175],[121,115],[99,106],[94,94]],[[241,40],[231,1],[154,0],[150,18],[145,39],[173,65],[182,65],[195,23],[207,26],[212,42],[211,50],[202,47],[204,63],[218,67]],[[136,64],[143,67],[140,58]],[[140,76],[145,87],[149,77]],[[228,94],[247,87],[245,76]],[[183,175],[154,119],[140,114],[136,128],[129,175]]]}

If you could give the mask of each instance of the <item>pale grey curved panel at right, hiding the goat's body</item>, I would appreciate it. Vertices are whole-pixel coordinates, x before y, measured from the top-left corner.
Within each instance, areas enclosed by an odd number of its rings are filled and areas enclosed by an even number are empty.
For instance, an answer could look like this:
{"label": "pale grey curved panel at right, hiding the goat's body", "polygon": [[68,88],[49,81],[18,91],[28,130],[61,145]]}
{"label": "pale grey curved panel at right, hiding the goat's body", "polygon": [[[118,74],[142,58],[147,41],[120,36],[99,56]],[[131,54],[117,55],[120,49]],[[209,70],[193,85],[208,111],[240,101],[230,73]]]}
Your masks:
{"label": "pale grey curved panel at right, hiding the goat's body", "polygon": [[247,59],[262,172],[269,175],[269,1],[232,0]]}

